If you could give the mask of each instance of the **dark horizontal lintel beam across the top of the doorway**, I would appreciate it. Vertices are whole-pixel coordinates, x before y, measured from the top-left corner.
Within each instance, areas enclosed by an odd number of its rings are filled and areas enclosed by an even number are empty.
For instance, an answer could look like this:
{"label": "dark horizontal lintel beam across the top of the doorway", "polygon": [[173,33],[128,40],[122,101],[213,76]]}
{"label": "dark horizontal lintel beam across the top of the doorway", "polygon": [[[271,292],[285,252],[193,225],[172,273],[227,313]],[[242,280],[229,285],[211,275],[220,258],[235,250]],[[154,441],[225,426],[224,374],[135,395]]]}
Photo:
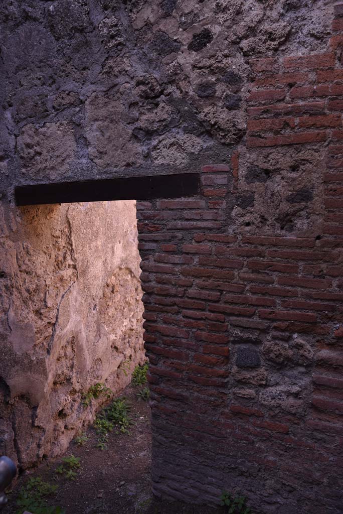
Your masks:
{"label": "dark horizontal lintel beam across the top of the doorway", "polygon": [[69,204],[82,201],[180,198],[198,194],[199,191],[198,173],[180,173],[17,186],[14,188],[14,195],[16,205],[22,206]]}

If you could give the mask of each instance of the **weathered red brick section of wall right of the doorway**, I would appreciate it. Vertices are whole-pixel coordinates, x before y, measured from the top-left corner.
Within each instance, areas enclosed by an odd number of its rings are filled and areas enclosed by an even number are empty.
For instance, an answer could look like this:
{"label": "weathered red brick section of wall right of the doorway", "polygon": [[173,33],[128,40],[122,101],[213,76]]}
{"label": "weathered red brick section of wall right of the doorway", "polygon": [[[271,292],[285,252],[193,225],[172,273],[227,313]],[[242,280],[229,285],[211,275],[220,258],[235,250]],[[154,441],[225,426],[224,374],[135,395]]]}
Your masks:
{"label": "weathered red brick section of wall right of the doorway", "polygon": [[[335,10],[322,53],[251,61],[245,145],[202,168],[199,196],[138,204],[164,497],[215,503],[224,488],[255,512],[342,512],[343,4]],[[300,184],[289,205],[310,202],[302,226],[273,212],[264,225],[239,218],[269,205],[265,183],[285,162]],[[280,202],[285,190],[280,180]]]}

